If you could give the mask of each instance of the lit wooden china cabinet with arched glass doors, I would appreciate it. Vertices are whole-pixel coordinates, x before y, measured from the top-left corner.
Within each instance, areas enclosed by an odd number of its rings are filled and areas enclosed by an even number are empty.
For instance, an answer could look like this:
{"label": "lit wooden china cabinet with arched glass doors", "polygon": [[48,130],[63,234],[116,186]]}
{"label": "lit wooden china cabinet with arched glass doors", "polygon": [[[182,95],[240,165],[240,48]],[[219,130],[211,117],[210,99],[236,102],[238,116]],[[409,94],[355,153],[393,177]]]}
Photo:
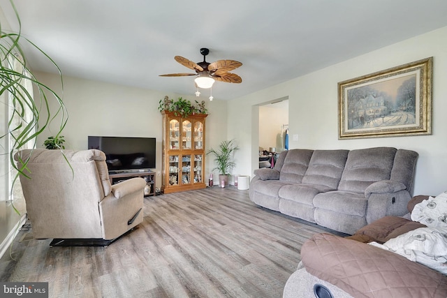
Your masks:
{"label": "lit wooden china cabinet with arched glass doors", "polygon": [[163,111],[163,193],[205,188],[205,118]]}

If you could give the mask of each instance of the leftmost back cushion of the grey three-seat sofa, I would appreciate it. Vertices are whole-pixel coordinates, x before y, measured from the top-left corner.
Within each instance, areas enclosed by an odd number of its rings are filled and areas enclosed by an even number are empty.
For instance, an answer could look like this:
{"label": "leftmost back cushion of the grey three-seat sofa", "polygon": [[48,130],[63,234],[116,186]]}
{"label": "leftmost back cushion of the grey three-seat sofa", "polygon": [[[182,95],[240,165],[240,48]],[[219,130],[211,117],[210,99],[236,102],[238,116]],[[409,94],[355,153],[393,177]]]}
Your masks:
{"label": "leftmost back cushion of the grey three-seat sofa", "polygon": [[279,180],[301,183],[302,177],[304,177],[309,166],[312,152],[313,150],[308,149],[293,149],[288,151],[286,158],[284,158],[284,164],[281,167]]}

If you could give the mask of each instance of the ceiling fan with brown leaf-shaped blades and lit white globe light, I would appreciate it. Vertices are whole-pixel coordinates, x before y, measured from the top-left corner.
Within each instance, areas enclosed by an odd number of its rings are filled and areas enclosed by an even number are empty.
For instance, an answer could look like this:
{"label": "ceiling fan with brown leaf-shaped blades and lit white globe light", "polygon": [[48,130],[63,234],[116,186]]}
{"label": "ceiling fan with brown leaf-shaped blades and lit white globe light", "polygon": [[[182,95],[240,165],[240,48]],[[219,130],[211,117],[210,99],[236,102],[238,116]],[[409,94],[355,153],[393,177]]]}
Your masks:
{"label": "ceiling fan with brown leaf-shaped blades and lit white globe light", "polygon": [[186,75],[196,75],[196,87],[198,88],[211,88],[214,81],[227,82],[227,83],[240,83],[242,78],[235,73],[228,73],[242,66],[242,63],[234,60],[218,60],[213,63],[205,61],[205,57],[210,53],[206,47],[200,49],[200,54],[203,55],[203,62],[195,63],[189,59],[181,56],[175,56],[174,59],[182,66],[186,66],[192,70],[196,70],[196,73],[169,73],[166,75],[160,75],[161,77],[183,77]]}

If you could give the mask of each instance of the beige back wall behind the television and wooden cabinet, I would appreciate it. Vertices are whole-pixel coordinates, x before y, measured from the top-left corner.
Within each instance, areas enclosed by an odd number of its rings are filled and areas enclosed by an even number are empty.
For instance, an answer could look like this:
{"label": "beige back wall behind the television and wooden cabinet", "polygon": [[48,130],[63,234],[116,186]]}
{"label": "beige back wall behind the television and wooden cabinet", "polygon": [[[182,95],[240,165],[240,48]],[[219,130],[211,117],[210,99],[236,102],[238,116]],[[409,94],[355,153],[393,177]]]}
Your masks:
{"label": "beige back wall behind the television and wooden cabinet", "polygon": [[[60,91],[59,77],[48,73],[36,73],[38,80]],[[195,91],[191,89],[191,93]],[[64,77],[64,103],[68,111],[68,122],[63,135],[67,149],[87,149],[88,135],[108,135],[124,137],[156,137],[156,172],[161,171],[161,114],[159,100],[170,98],[196,100],[196,96],[178,95],[117,84],[108,84],[75,77]],[[205,100],[209,116],[206,119],[206,147],[217,146],[226,131],[226,102]],[[52,110],[54,112],[54,102]],[[38,146],[50,135],[57,133],[58,121],[54,121],[48,131],[38,139]],[[206,177],[214,167],[212,158],[206,160]],[[206,179],[207,181],[207,179]],[[156,186],[161,186],[161,176],[157,176]]]}

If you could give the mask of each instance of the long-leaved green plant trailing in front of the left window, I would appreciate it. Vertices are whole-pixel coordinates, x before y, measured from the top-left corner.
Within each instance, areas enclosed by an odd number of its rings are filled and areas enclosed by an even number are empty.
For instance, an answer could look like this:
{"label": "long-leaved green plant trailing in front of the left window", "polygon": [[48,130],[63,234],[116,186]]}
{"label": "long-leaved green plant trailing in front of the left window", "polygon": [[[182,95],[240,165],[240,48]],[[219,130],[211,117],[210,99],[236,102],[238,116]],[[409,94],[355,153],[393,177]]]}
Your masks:
{"label": "long-leaved green plant trailing in front of the left window", "polygon": [[[22,24],[13,0],[10,0],[10,5],[13,7],[19,29],[18,32],[6,31],[0,23],[0,100],[3,100],[3,104],[10,107],[11,111],[7,132],[0,135],[0,139],[9,138],[11,140],[9,151],[3,154],[9,155],[11,165],[17,170],[13,179],[13,183],[15,183],[20,175],[28,177],[25,171],[28,161],[21,161],[22,166],[17,167],[14,154],[29,142],[36,144],[37,137],[55,120],[59,121],[59,126],[54,138],[60,140],[68,114],[61,97],[34,76],[27,64],[22,45],[30,45],[41,54],[43,59],[50,61],[59,73],[61,89],[63,89],[61,70],[43,50],[22,36]],[[27,91],[28,89],[24,87],[25,84],[31,84],[34,87],[34,95]],[[55,112],[53,112],[53,108],[50,108],[52,101],[56,102]],[[15,211],[19,213],[17,209]]]}

